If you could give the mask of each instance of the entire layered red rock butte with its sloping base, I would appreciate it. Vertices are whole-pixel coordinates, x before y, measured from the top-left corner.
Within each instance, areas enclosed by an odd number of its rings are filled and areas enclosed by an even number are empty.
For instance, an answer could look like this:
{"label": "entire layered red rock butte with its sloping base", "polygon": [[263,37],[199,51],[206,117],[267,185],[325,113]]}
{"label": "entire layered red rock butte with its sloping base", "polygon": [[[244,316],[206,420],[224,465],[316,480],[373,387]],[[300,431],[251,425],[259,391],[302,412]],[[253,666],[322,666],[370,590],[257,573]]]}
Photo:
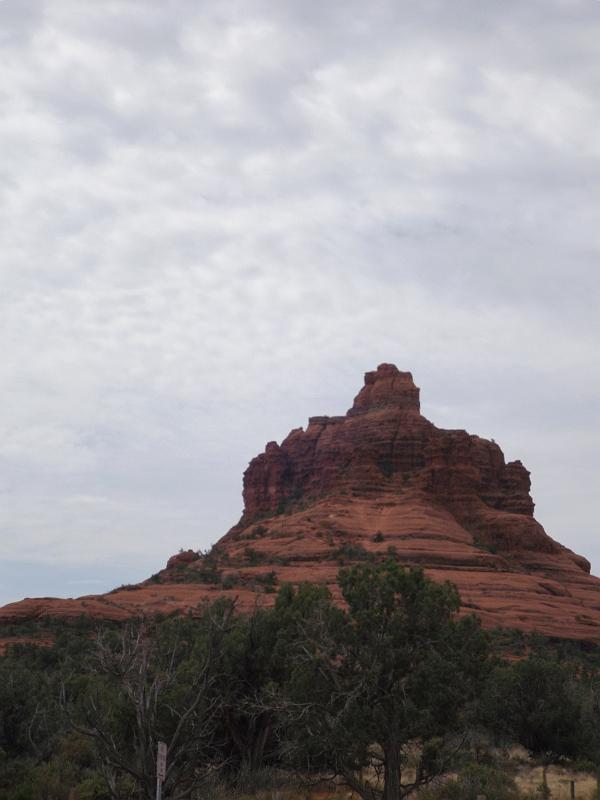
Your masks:
{"label": "entire layered red rock butte with its sloping base", "polygon": [[520,461],[436,428],[411,373],[381,364],[345,416],[311,417],[250,462],[242,517],[209,555],[179,553],[105,595],[13,603],[0,621],[187,612],[222,595],[249,610],[271,604],[284,581],[339,596],[341,565],[392,557],[455,583],[486,626],[600,642],[600,580],[535,520],[529,490]]}

